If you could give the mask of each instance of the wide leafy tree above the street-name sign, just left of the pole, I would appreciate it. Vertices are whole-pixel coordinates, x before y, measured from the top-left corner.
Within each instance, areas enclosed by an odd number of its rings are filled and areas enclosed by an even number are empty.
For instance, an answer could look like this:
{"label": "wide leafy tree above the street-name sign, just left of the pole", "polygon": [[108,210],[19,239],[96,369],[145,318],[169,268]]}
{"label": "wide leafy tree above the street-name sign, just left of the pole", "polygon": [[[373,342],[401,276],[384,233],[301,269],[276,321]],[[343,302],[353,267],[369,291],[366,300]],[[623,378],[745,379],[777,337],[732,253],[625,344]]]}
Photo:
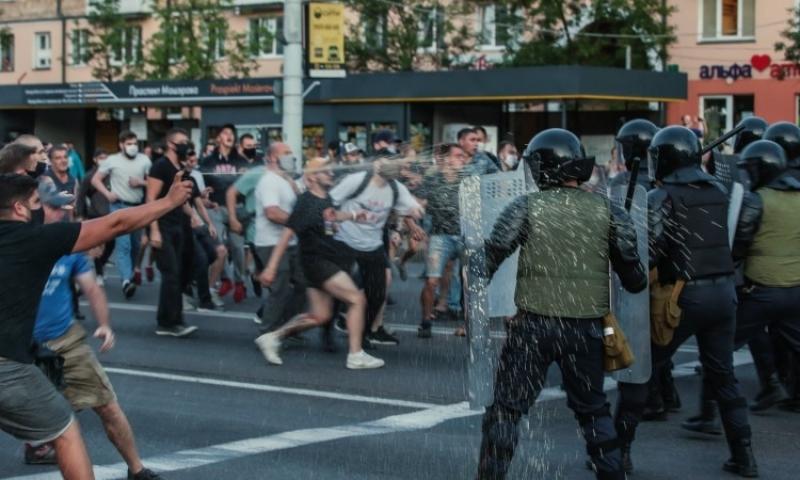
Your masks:
{"label": "wide leafy tree above the street-name sign, just left of the pole", "polygon": [[[147,42],[141,76],[154,80],[249,77],[257,67],[245,33],[228,28],[233,0],[154,1],[159,30]],[[272,41],[260,32],[260,41]]]}

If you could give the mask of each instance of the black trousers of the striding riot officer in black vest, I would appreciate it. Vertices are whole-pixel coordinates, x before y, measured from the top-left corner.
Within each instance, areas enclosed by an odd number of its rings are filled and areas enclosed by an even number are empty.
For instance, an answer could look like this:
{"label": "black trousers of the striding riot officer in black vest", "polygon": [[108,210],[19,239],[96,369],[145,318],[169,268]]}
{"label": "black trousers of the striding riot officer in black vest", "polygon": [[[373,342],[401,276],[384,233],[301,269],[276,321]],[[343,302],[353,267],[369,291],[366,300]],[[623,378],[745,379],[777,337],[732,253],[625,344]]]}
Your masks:
{"label": "black trousers of the striding riot officer in black vest", "polygon": [[[678,304],[680,325],[666,347],[653,345],[653,371],[659,371],[689,337],[697,337],[703,366],[703,389],[720,408],[728,440],[750,438],[747,402],[733,372],[736,329],[736,292],[733,277],[713,284],[688,283]],[[647,384],[619,384],[616,426],[622,440],[633,441],[647,398]]]}

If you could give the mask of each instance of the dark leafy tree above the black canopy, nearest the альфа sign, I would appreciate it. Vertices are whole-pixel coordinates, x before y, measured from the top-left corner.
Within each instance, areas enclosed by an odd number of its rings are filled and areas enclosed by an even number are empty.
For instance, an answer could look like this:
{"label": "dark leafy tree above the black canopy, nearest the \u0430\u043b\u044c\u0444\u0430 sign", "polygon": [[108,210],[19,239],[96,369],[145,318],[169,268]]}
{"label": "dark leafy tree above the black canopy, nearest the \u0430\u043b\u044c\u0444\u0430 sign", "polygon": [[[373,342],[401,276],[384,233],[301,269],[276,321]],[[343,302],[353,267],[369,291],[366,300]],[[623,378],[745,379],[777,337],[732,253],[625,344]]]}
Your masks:
{"label": "dark leafy tree above the black canopy, nearest the \u0430\u043b\u044c\u0444\u0430 sign", "polygon": [[[504,63],[509,66],[579,64],[651,69],[675,41],[662,0],[506,0]],[[497,26],[498,29],[501,25]],[[532,30],[530,34],[520,32]]]}

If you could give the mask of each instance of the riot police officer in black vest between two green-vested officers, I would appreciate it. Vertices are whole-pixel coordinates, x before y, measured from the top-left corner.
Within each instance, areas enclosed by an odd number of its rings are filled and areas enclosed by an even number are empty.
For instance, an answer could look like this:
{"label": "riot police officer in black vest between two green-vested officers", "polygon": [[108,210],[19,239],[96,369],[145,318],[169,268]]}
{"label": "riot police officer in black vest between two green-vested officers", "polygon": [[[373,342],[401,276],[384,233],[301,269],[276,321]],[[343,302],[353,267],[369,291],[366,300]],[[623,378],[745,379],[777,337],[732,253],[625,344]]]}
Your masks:
{"label": "riot police officer in black vest between two green-vested officers", "polygon": [[[724,187],[702,171],[701,153],[699,140],[684,127],[662,129],[650,145],[649,168],[657,185],[648,195],[650,262],[660,284],[684,284],[678,297],[680,323],[669,345],[654,346],[653,365],[657,369],[686,339],[696,336],[703,382],[719,405],[730,447],[731,458],[723,468],[756,477],[747,402],[733,371],[736,291],[727,228],[729,200]],[[618,417],[635,431],[638,412],[626,411],[625,396],[621,390]]]}

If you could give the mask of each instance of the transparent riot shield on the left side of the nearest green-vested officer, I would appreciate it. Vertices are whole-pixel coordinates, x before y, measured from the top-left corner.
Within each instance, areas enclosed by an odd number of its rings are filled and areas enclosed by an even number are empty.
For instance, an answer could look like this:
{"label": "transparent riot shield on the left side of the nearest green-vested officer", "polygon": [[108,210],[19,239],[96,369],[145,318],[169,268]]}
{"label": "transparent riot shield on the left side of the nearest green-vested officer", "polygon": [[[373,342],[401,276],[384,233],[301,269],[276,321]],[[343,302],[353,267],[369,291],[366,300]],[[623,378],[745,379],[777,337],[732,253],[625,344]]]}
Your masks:
{"label": "transparent riot shield on the left side of the nearest green-vested officer", "polygon": [[484,240],[489,237],[503,209],[515,198],[535,189],[525,169],[473,176],[461,182],[459,202],[464,236],[464,296],[469,341],[469,403],[482,409],[491,403],[496,355],[491,345],[490,320],[516,313],[514,289],[517,278],[515,252],[490,279],[486,271]]}

